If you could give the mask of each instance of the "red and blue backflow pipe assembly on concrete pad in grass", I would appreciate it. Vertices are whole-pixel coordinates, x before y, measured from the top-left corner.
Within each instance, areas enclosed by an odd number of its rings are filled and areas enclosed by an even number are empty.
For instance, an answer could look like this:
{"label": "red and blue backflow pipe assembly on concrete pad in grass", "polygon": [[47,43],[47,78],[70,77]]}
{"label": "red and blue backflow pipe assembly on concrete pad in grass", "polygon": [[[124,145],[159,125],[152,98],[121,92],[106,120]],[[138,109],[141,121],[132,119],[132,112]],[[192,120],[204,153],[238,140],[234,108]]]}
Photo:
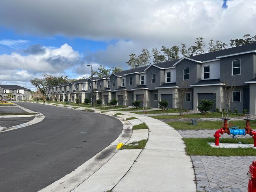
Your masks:
{"label": "red and blue backflow pipe assembly on concrete pad in grass", "polygon": [[250,127],[250,120],[246,120],[246,126],[244,129],[238,129],[236,126],[234,127],[228,127],[228,120],[227,118],[223,118],[224,125],[221,129],[217,130],[215,134],[213,135],[215,137],[215,145],[219,146],[219,138],[224,133],[227,133],[228,135],[232,135],[233,138],[236,138],[236,135],[246,135],[249,134],[254,139],[254,147],[256,147],[256,131],[253,131]]}

